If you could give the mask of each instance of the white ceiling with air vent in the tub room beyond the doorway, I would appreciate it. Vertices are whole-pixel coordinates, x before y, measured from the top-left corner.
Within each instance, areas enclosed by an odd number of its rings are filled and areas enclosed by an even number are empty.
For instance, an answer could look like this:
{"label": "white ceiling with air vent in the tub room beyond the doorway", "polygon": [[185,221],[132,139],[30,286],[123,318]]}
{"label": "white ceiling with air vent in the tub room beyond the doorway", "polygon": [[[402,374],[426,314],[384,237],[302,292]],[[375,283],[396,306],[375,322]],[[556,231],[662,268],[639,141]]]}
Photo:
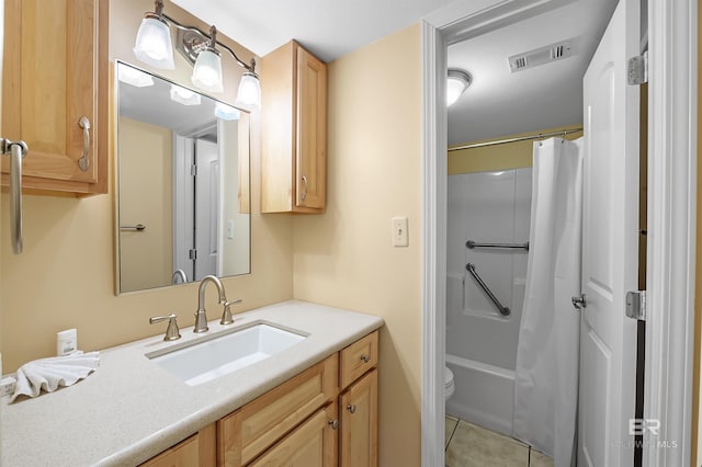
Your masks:
{"label": "white ceiling with air vent in the tub room beyond the doorway", "polygon": [[[449,47],[473,83],[449,107],[449,144],[582,123],[582,76],[616,5],[578,0]],[[574,55],[510,72],[508,57],[576,38]]]}

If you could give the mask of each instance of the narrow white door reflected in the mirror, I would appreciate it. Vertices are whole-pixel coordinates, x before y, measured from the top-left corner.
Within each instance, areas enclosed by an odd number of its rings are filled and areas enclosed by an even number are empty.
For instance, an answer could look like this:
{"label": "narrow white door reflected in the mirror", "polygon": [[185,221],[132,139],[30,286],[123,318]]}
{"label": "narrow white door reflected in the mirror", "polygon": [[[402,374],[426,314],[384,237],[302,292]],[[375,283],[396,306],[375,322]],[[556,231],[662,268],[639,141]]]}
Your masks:
{"label": "narrow white door reflected in the mirror", "polygon": [[217,273],[219,236],[219,156],[217,145],[195,143],[195,281]]}

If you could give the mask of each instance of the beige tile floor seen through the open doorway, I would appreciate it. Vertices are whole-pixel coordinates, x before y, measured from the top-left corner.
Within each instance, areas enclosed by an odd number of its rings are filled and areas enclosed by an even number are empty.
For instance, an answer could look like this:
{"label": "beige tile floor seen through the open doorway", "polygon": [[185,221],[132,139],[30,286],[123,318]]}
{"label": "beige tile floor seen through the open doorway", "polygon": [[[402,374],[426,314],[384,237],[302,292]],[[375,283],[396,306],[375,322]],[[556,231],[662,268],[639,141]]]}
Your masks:
{"label": "beige tile floor seen through the open doorway", "polygon": [[446,415],[446,467],[553,467],[553,459],[531,446]]}

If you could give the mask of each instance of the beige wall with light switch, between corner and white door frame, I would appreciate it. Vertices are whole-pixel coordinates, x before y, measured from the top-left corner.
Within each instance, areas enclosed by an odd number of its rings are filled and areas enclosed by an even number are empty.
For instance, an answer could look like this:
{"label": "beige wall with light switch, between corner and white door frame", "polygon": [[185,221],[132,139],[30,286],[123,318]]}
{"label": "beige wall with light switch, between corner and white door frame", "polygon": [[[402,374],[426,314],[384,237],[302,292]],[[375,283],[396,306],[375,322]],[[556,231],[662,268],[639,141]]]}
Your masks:
{"label": "beige wall with light switch, between corner and white door frame", "polygon": [[[328,201],[294,220],[295,297],[381,331],[380,465],[420,464],[421,48],[414,25],[329,64]],[[409,248],[390,218],[409,217]]]}

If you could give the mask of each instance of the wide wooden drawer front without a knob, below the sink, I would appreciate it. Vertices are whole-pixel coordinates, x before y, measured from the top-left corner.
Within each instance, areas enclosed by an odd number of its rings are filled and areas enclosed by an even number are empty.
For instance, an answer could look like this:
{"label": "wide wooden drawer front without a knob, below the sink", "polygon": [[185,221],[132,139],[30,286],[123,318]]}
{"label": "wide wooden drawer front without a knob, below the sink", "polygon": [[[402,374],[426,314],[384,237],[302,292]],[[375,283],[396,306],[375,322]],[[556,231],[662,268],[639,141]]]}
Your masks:
{"label": "wide wooden drawer front without a knob, below the sink", "polygon": [[217,422],[220,464],[250,463],[339,394],[339,357],[331,355]]}

